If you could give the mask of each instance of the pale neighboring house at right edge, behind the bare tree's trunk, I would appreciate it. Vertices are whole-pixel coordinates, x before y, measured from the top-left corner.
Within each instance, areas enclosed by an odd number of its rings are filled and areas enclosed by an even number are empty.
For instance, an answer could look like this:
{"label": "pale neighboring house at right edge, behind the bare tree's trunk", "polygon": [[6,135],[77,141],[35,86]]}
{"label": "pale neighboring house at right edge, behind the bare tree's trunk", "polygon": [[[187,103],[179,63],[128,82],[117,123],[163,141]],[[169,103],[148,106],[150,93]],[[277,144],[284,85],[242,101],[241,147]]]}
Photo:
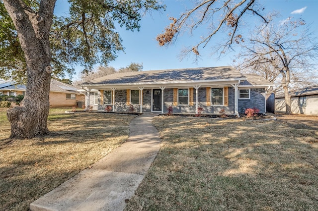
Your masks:
{"label": "pale neighboring house at right edge, behind the bare tree's trunk", "polygon": [[[291,110],[294,114],[318,116],[318,85],[306,87],[290,93]],[[284,93],[276,94],[276,112],[285,112]]]}

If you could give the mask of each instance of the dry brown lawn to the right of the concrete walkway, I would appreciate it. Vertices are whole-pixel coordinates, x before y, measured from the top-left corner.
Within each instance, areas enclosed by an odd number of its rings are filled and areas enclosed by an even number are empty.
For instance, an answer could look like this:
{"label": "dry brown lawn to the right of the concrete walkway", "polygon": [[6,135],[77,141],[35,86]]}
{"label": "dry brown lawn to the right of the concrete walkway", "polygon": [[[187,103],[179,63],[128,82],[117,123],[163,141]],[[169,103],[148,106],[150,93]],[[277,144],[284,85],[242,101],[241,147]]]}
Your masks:
{"label": "dry brown lawn to the right of the concrete walkway", "polygon": [[318,210],[312,121],[156,117],[162,147],[126,211]]}

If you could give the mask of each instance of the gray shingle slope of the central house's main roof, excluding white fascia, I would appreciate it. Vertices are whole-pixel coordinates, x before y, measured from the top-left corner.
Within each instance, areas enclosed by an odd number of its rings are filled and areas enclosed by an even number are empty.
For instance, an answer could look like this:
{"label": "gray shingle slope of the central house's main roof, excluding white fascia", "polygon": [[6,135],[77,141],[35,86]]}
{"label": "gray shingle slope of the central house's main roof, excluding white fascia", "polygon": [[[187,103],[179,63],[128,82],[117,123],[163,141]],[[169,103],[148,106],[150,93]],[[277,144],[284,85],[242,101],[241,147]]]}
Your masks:
{"label": "gray shingle slope of the central house's main roof, excluding white fascia", "polygon": [[231,66],[202,67],[186,69],[152,70],[141,72],[114,73],[101,78],[88,81],[85,85],[110,85],[110,84],[132,84],[145,83],[156,84],[162,82],[187,82],[202,80],[233,80],[244,78],[244,76]]}

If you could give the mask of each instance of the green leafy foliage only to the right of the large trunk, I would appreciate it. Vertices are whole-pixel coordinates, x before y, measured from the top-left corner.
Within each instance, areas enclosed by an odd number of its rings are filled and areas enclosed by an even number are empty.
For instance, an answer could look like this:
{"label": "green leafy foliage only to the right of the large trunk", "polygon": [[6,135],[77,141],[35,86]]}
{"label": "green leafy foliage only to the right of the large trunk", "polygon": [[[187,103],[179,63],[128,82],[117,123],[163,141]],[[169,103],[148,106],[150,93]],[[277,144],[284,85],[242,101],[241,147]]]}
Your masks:
{"label": "green leafy foliage only to the right of the large trunk", "polygon": [[116,22],[127,30],[139,30],[143,14],[161,9],[156,0],[69,0],[70,16],[56,17],[53,22],[53,57],[61,63],[76,63],[92,69],[93,64],[107,65],[124,51],[122,39],[116,32]]}

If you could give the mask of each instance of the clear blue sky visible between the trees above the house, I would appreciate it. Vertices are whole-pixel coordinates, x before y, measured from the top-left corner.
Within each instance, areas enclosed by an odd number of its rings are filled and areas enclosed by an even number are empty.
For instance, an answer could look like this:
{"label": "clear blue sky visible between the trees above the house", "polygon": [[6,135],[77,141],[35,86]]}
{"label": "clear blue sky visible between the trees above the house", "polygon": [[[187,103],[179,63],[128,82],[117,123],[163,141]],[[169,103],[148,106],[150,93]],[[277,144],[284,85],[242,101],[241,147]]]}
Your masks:
{"label": "clear blue sky visible between the trees above the house", "polygon": [[[174,68],[190,68],[190,67],[208,67],[231,65],[233,55],[231,53],[217,59],[217,55],[211,54],[214,43],[210,42],[204,51],[200,51],[201,58],[197,63],[193,58],[184,58],[180,61],[179,54],[184,46],[194,45],[198,42],[201,33],[205,32],[205,28],[200,28],[195,32],[194,36],[184,34],[178,37],[178,41],[174,45],[168,47],[159,47],[156,36],[160,34],[164,28],[171,22],[168,17],[179,17],[181,12],[186,8],[191,8],[194,0],[162,0],[166,4],[166,11],[153,11],[147,14],[142,21],[140,31],[127,31],[125,28],[118,28],[125,53],[118,53],[115,61],[111,61],[109,66],[117,69],[128,66],[131,62],[143,63],[145,70],[174,69]],[[302,17],[306,23],[312,23],[312,30],[318,37],[318,20],[317,8],[318,0],[261,0],[266,11],[280,12],[280,21],[286,20],[288,17]],[[67,0],[57,0],[56,14],[60,14],[66,7]],[[64,10],[65,11],[65,10]],[[219,36],[222,36],[220,34]],[[217,41],[216,37],[216,41]],[[77,71],[80,71],[77,67]]]}

